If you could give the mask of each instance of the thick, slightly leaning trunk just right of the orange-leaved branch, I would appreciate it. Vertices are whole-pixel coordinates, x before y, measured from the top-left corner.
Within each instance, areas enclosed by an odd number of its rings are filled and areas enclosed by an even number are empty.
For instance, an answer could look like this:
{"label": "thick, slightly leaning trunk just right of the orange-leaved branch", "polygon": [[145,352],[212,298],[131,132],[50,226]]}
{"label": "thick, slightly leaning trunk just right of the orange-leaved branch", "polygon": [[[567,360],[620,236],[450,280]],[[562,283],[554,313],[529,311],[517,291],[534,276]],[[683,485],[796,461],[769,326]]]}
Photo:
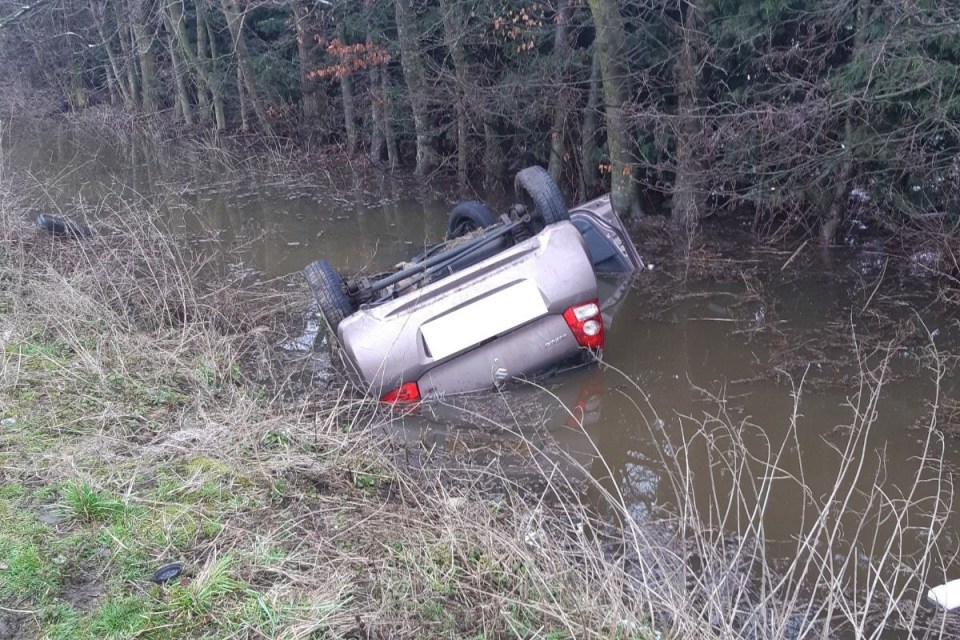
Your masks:
{"label": "thick, slightly leaning trunk just right of the orange-leaved branch", "polygon": [[397,21],[397,41],[400,46],[400,66],[407,84],[413,128],[417,137],[417,165],[414,173],[425,176],[437,165],[436,142],[430,124],[429,87],[421,57],[416,11],[411,0],[394,0]]}

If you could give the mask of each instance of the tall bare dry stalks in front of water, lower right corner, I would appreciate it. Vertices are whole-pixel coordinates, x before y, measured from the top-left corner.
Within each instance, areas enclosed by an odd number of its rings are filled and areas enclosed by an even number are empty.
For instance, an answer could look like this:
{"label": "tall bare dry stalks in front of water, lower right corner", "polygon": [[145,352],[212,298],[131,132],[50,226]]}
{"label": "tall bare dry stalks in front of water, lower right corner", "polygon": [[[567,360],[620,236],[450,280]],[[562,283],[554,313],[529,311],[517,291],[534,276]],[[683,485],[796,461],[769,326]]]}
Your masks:
{"label": "tall bare dry stalks in front of water, lower right corner", "polygon": [[[656,577],[643,581],[642,596],[655,619],[678,637],[955,633],[956,621],[936,616],[924,601],[926,588],[943,582],[944,567],[957,559],[941,542],[950,537],[945,527],[952,505],[936,428],[944,372],[936,353],[928,354],[928,362],[937,395],[922,431],[920,459],[907,463],[916,470],[906,487],[886,482],[888,460],[874,433],[889,366],[883,354],[875,367],[861,370],[850,396],[851,422],[838,427],[836,478],[826,493],[811,490],[797,436],[802,381],[782,440],[733,418],[722,396],[712,397],[714,412],[682,416],[674,442],[655,435],[670,454],[662,459],[662,475],[671,482],[669,502],[679,506],[672,514],[677,534],[670,552],[650,554],[651,545],[634,537],[641,573]],[[657,431],[650,405],[638,403],[637,409]],[[767,531],[783,511],[776,505],[782,500],[792,501],[801,523],[785,541]]]}

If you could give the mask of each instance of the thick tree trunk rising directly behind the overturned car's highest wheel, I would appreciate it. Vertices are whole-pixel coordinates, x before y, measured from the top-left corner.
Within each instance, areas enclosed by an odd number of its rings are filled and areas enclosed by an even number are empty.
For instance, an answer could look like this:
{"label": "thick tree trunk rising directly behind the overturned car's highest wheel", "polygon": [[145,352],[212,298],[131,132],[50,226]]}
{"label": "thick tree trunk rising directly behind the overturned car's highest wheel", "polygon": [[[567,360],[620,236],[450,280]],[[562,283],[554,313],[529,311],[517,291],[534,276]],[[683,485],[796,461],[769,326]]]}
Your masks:
{"label": "thick tree trunk rising directly behind the overturned car's highest wheel", "polygon": [[639,216],[640,194],[630,163],[630,127],[624,114],[629,94],[625,65],[623,18],[617,0],[589,0],[596,28],[595,46],[600,55],[600,77],[610,150],[610,200],[622,216]]}

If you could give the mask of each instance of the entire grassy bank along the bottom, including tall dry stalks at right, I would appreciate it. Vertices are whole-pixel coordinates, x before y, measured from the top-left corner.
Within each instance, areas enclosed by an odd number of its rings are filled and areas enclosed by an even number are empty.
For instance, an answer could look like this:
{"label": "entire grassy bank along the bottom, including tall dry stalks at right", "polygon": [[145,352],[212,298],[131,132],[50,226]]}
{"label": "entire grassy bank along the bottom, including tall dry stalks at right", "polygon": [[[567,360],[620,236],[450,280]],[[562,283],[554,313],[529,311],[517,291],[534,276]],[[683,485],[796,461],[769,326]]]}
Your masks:
{"label": "entire grassy bank along the bottom, including tall dry stalks at right", "polygon": [[[410,469],[378,435],[382,408],[335,378],[290,381],[275,347],[309,304],[299,282],[218,274],[139,199],[100,203],[93,237],[51,238],[19,187],[0,185],[2,638],[779,640],[950,627],[923,605],[953,560],[939,544],[950,497],[939,408],[913,487],[894,495],[863,465],[883,354],[851,385],[827,495],[787,471],[801,455],[799,382],[778,442],[722,397],[665,433],[624,378],[637,429],[661,444],[651,465],[671,508],[637,522],[606,481],[591,484],[588,508],[541,468],[536,486],[565,496],[549,507],[493,466],[494,482],[475,484]],[[697,494],[696,474],[711,491]],[[774,561],[764,522],[783,484],[800,489],[805,517],[793,553]],[[152,583],[171,562],[183,574]]]}

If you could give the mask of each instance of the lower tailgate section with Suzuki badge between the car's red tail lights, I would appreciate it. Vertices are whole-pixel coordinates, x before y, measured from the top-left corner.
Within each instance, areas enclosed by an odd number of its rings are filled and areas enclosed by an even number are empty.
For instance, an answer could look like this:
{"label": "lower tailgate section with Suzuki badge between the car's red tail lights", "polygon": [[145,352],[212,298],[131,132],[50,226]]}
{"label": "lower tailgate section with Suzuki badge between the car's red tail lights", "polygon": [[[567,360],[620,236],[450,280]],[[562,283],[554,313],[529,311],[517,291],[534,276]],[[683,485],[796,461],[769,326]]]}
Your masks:
{"label": "lower tailgate section with Suzuki badge between the car's red tail lights", "polygon": [[425,399],[480,391],[543,371],[581,352],[564,319],[551,315],[430,369],[417,383]]}

